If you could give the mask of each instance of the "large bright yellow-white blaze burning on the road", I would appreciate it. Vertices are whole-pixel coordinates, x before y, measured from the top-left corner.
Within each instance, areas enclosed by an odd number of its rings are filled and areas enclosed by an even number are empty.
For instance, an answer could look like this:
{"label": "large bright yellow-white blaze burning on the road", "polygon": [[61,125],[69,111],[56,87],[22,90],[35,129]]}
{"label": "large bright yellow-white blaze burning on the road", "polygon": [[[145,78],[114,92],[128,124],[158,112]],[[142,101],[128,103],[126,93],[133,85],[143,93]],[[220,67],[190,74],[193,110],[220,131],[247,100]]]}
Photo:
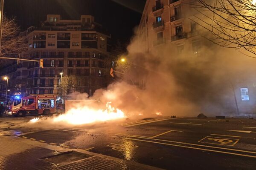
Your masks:
{"label": "large bright yellow-white blaze burning on the road", "polygon": [[93,109],[87,106],[68,110],[65,114],[54,118],[54,122],[67,122],[69,124],[88,124],[96,121],[109,121],[119,118],[125,118],[125,114],[111,107],[111,102],[106,104],[107,109]]}

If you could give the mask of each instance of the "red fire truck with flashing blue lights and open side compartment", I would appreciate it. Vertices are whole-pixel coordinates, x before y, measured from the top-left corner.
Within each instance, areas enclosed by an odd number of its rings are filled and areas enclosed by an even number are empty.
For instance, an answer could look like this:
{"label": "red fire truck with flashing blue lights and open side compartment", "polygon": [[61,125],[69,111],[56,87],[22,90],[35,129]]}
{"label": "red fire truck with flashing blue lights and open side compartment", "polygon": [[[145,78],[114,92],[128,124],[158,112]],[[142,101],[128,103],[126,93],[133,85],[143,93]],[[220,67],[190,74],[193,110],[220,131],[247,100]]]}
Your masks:
{"label": "red fire truck with flashing blue lights and open side compartment", "polygon": [[56,95],[15,96],[8,115],[44,114],[56,112]]}

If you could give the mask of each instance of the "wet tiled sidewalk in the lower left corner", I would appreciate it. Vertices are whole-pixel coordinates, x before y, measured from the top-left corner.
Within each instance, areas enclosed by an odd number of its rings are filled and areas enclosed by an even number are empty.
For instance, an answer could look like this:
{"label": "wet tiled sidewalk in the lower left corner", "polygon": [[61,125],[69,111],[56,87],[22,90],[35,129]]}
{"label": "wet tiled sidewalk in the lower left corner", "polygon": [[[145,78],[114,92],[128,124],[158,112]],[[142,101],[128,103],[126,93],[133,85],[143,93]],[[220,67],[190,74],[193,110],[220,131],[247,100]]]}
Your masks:
{"label": "wet tiled sidewalk in the lower left corner", "polygon": [[[73,151],[73,152],[72,152]],[[68,162],[70,153],[86,158]],[[65,157],[65,154],[67,155]],[[79,155],[78,154],[78,155]],[[71,155],[71,154],[70,154]],[[64,158],[64,159],[63,159]],[[55,162],[63,163],[52,163]],[[54,162],[53,161],[53,162]],[[68,163],[67,163],[68,162]],[[0,137],[1,170],[161,170],[148,165],[91,153],[67,149],[17,136]]]}

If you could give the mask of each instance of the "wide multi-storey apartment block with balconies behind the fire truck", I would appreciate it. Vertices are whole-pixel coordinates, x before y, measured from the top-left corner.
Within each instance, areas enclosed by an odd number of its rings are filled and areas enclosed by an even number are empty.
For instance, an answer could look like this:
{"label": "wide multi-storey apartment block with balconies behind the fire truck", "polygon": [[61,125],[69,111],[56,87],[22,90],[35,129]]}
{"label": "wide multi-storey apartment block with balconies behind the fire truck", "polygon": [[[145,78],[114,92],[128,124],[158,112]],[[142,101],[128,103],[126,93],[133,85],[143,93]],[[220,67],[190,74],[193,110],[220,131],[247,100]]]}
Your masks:
{"label": "wide multi-storey apartment block with balconies behind the fire truck", "polygon": [[[96,89],[106,86],[104,59],[110,55],[111,35],[93,16],[81,15],[79,20],[63,20],[60,15],[47,15],[41,27],[29,27],[21,35],[27,37],[28,50],[21,57],[44,60],[44,68],[38,62],[14,63],[0,70],[0,76],[9,78],[10,95],[17,80],[20,89],[29,94],[61,95],[62,76],[75,76],[78,91],[92,95]],[[13,81],[13,83],[12,83]],[[0,96],[5,97],[6,81],[0,80]]]}

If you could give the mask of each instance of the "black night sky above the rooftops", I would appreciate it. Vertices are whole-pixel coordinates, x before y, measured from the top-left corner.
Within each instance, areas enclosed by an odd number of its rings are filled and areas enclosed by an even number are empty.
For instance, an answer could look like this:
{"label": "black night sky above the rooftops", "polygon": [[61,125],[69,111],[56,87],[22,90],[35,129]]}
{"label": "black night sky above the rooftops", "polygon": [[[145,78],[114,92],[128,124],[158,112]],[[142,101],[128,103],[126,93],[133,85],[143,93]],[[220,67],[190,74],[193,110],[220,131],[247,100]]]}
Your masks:
{"label": "black night sky above the rooftops", "polygon": [[111,33],[113,41],[127,42],[140,23],[146,0],[5,0],[4,13],[17,17],[22,30],[40,26],[47,14],[61,14],[63,19],[93,15],[95,21]]}

